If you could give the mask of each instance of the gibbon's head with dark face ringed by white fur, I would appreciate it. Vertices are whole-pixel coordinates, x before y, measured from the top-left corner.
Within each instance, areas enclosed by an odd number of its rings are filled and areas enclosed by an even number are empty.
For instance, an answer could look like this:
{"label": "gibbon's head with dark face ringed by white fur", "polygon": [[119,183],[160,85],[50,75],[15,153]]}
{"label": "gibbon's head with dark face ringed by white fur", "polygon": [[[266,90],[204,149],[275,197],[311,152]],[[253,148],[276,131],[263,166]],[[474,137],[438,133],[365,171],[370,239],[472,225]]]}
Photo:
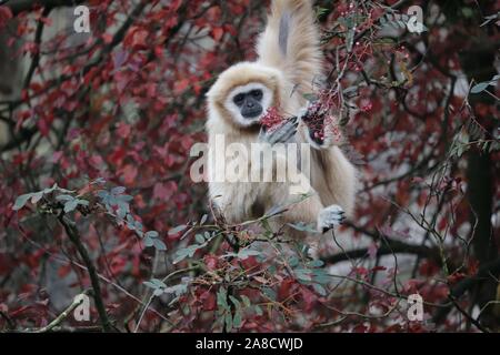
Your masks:
{"label": "gibbon's head with dark face ringed by white fur", "polygon": [[280,72],[259,63],[243,62],[222,72],[207,93],[211,110],[238,128],[258,125],[271,106],[278,106]]}

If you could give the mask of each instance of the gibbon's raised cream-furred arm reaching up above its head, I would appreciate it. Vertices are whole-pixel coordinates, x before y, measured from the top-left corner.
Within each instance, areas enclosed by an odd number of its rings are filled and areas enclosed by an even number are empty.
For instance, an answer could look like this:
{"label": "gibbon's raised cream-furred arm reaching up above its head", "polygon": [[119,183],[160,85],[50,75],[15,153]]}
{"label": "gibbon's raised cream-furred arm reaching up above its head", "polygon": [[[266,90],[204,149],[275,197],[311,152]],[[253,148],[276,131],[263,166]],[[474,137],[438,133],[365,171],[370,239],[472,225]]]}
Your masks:
{"label": "gibbon's raised cream-furred arm reaching up above its head", "polygon": [[[268,26],[257,44],[259,62],[281,70],[293,91],[313,92],[323,55],[311,0],[273,0]],[[303,105],[306,100],[301,98]]]}

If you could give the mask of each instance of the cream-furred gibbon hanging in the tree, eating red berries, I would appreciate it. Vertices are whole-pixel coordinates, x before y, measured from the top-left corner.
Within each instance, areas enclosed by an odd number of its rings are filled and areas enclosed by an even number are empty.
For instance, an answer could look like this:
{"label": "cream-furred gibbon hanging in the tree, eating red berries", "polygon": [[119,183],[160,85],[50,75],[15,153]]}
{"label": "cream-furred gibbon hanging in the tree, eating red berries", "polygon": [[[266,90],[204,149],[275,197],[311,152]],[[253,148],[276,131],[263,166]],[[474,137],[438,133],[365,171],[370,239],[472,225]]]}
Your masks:
{"label": "cream-furred gibbon hanging in the tree, eating red berries", "polygon": [[[209,197],[228,223],[258,219],[276,206],[284,206],[286,211],[273,222],[277,227],[303,222],[314,223],[319,232],[326,232],[353,211],[358,179],[354,166],[336,140],[328,136],[316,140],[300,119],[308,104],[306,95],[313,92],[314,81],[323,75],[314,22],[311,1],[273,0],[266,30],[258,39],[257,61],[230,67],[207,93],[209,150],[213,149],[218,134],[223,135],[227,144],[240,143],[249,149],[262,141],[308,143],[312,148],[308,158],[311,193],[306,199],[290,194],[287,181],[214,181],[217,162],[227,158],[209,159]],[[299,119],[264,132],[260,120],[269,108],[279,108],[280,112]],[[288,232],[292,236],[302,234],[291,229]]]}

